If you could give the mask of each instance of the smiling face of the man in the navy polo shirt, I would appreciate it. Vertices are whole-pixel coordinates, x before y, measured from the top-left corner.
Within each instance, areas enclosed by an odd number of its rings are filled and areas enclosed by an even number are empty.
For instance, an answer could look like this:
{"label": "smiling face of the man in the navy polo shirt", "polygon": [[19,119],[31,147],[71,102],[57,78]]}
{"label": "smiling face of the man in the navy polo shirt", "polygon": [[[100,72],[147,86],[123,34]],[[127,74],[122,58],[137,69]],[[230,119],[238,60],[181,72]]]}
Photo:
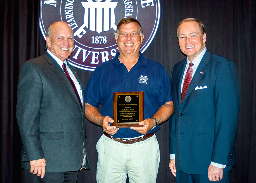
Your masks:
{"label": "smiling face of the man in the navy polo shirt", "polygon": [[138,56],[144,35],[140,36],[140,29],[137,22],[123,24],[119,27],[119,35],[116,43],[120,55]]}

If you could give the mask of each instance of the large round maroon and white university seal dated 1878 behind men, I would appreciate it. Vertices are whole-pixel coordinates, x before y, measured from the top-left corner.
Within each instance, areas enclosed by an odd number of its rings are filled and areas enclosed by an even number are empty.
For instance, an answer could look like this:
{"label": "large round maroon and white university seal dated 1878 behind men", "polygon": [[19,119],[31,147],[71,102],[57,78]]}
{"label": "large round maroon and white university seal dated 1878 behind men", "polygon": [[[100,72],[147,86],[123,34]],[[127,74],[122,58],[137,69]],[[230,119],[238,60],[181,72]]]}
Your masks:
{"label": "large round maroon and white university seal dated 1878 behind men", "polygon": [[118,52],[114,33],[118,22],[126,17],[140,22],[144,33],[140,51],[144,52],[157,32],[159,0],[41,0],[39,26],[45,39],[51,23],[68,23],[74,33],[69,63],[94,71]]}

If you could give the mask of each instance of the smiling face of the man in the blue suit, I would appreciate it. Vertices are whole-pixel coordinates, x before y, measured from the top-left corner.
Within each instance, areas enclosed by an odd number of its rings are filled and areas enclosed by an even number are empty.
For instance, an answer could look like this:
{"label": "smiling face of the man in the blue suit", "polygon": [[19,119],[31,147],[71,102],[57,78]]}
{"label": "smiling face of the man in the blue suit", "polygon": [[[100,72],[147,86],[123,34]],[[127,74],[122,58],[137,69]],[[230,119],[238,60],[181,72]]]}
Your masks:
{"label": "smiling face of the man in the blue suit", "polygon": [[181,51],[193,61],[205,48],[206,34],[201,34],[197,22],[184,22],[178,30],[179,45]]}

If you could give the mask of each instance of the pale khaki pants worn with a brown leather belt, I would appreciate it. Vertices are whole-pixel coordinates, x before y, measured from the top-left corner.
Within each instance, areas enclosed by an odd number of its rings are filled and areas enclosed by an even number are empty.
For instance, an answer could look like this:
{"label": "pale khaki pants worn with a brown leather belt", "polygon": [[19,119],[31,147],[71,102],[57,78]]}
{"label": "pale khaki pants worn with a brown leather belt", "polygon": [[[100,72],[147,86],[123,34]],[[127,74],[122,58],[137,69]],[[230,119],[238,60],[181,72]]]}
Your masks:
{"label": "pale khaki pants worn with a brown leather belt", "polygon": [[155,183],[160,162],[156,136],[134,144],[123,144],[102,135],[98,151],[97,183]]}

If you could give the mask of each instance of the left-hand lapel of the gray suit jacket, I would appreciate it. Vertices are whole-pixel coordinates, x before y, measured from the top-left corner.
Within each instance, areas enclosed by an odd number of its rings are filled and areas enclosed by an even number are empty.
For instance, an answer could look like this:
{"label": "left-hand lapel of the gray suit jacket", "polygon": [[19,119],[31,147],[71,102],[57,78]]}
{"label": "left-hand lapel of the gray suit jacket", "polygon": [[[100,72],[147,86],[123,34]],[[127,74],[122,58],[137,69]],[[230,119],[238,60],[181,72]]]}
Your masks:
{"label": "left-hand lapel of the gray suit jacket", "polygon": [[[80,102],[78,101],[78,98],[75,94],[75,91],[73,89],[73,86],[71,85],[70,81],[68,80],[68,77],[66,76],[66,74],[63,72],[63,70],[60,68],[59,64],[46,52],[44,54],[44,56],[47,58],[49,64],[51,64],[51,68],[54,70],[54,72],[56,72],[56,74],[61,78],[61,80],[65,83],[65,85],[67,86],[68,90],[71,92],[71,94],[73,95],[73,97],[75,98],[76,102],[79,104],[80,106]],[[69,68],[70,65],[68,65]],[[74,71],[72,70],[72,72],[74,73]],[[75,73],[74,73],[75,75]],[[75,77],[77,78],[77,76],[75,75]],[[79,82],[79,81],[78,81]]]}

